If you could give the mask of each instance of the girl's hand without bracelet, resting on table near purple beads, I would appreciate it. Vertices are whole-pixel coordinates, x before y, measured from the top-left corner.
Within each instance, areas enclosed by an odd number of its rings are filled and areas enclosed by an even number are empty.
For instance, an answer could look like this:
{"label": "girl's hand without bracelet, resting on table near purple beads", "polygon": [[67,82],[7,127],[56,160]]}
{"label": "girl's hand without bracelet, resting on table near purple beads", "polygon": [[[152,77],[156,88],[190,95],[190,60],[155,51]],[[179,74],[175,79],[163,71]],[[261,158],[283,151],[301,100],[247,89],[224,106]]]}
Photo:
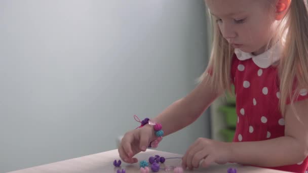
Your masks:
{"label": "girl's hand without bracelet, resting on table near purple beads", "polygon": [[182,166],[189,169],[198,168],[203,160],[202,167],[212,162],[225,164],[230,158],[230,143],[199,138],[191,145],[182,158]]}

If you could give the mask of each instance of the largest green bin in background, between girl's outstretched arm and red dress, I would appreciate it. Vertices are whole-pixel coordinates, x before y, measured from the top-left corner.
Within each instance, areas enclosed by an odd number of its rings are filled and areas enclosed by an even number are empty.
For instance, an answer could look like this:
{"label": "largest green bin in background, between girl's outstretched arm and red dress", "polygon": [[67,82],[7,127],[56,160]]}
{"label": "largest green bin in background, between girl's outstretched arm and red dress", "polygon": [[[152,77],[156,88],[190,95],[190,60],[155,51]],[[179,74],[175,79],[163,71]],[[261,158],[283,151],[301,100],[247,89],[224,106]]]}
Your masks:
{"label": "largest green bin in background, between girl's outstretched arm and red dress", "polygon": [[238,115],[236,107],[220,106],[218,110],[223,113],[225,123],[229,128],[235,128],[237,126]]}

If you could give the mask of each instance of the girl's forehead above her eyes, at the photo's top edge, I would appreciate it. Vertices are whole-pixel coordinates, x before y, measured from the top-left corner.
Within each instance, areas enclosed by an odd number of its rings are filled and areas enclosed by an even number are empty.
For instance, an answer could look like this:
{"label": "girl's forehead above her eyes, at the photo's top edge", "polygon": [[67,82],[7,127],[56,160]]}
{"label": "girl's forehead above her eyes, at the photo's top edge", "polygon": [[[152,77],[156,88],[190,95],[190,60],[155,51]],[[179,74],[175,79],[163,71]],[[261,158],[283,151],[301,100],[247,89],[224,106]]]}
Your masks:
{"label": "girl's forehead above her eyes, at the photo's top edge", "polygon": [[253,8],[261,6],[262,2],[264,0],[205,0],[211,13],[217,16],[249,13]]}

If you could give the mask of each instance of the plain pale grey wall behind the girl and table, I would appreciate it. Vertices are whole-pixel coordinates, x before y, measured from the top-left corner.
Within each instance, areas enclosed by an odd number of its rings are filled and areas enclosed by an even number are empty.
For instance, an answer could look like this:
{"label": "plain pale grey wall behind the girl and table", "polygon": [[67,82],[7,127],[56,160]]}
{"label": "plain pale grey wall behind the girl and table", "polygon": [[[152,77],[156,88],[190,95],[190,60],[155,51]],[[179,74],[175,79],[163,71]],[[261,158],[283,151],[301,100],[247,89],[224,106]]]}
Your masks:
{"label": "plain pale grey wall behind the girl and table", "polygon": [[[206,33],[202,0],[0,1],[0,172],[115,149],[194,89]],[[208,118],[158,149],[184,153]]]}

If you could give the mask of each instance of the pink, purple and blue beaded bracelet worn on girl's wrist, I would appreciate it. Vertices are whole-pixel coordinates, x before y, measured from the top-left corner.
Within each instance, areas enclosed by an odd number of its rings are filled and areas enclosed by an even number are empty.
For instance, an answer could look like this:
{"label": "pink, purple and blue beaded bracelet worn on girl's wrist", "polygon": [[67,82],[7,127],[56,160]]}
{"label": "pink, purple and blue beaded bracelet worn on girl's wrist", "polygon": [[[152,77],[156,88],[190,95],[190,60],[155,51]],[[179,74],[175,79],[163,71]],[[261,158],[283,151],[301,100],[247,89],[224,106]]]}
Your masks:
{"label": "pink, purple and blue beaded bracelet worn on girl's wrist", "polygon": [[151,141],[148,148],[157,148],[158,144],[163,140],[163,135],[164,135],[164,131],[162,130],[162,124],[149,119],[149,118],[144,118],[142,121],[140,121],[140,119],[138,118],[137,115],[134,115],[134,118],[136,121],[140,122],[141,125],[137,128],[141,128],[146,124],[150,124],[154,126],[154,130],[155,130],[155,135],[158,137],[156,140]]}

